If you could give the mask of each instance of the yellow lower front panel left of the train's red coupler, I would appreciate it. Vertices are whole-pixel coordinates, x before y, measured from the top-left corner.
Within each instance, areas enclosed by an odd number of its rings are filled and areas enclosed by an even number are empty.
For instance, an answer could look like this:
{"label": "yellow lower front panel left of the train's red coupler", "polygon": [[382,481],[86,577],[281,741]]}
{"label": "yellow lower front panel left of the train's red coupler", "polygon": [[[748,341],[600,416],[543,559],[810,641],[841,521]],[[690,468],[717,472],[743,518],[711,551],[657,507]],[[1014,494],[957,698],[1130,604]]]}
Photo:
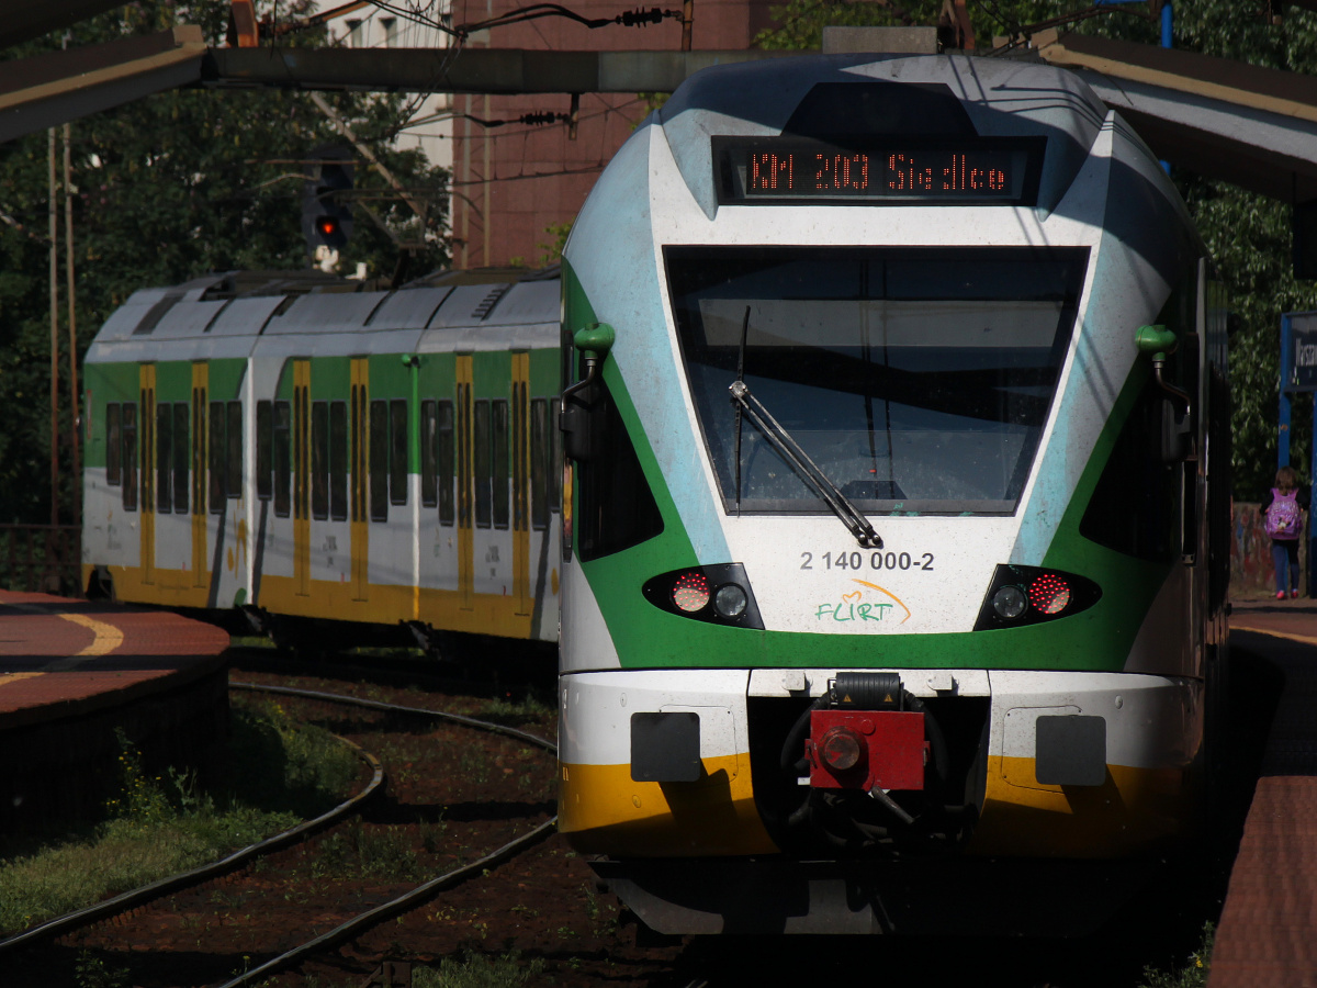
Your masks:
{"label": "yellow lower front panel left of the train's red coupler", "polygon": [[736,764],[736,755],[703,759],[698,782],[635,782],[630,764],[561,764],[558,830],[577,851],[618,858],[774,854]]}

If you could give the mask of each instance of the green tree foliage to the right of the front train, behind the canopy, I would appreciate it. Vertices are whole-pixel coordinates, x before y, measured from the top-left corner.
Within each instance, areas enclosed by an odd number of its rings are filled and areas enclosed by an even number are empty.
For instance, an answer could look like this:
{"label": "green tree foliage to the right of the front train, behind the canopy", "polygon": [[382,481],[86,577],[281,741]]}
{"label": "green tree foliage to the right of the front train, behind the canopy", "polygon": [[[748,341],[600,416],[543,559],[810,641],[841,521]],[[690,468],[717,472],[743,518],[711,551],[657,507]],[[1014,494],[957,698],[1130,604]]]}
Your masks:
{"label": "green tree foliage to the right of the front train, behind the canopy", "polygon": [[[772,8],[777,25],[761,32],[756,43],[765,49],[814,49],[822,42],[824,25],[934,25],[940,9],[940,0],[788,0]],[[1071,20],[1063,26],[1081,33],[1152,45],[1160,37],[1155,3],[1112,5],[1084,20],[1075,17],[1092,11],[1089,4],[1060,0],[984,0],[969,9],[980,50],[992,46],[993,34],[1025,42],[1040,25],[1067,16]],[[1177,49],[1317,74],[1317,13],[1289,7],[1283,21],[1272,24],[1266,5],[1227,0],[1177,0],[1173,11]],[[1239,317],[1239,331],[1230,341],[1234,493],[1237,499],[1254,499],[1270,486],[1276,469],[1280,314],[1317,310],[1317,286],[1297,282],[1292,274],[1288,204],[1183,169],[1172,170],[1172,179]],[[1303,476],[1309,472],[1310,408],[1312,399],[1303,397],[1292,412],[1291,461]]]}

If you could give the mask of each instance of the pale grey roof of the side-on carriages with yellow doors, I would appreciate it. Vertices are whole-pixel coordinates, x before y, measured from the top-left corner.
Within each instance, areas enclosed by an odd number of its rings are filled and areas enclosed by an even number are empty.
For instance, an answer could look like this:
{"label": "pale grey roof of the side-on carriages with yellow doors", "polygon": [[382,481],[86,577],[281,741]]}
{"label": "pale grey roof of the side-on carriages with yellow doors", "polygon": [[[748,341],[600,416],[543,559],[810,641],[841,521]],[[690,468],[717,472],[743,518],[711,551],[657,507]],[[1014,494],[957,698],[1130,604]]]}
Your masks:
{"label": "pale grey roof of the side-on carriages with yellow doors", "polygon": [[133,292],[87,360],[240,357],[271,337],[295,337],[278,349],[357,353],[556,346],[558,282],[556,266],[437,271],[398,290],[320,271],[227,271]]}

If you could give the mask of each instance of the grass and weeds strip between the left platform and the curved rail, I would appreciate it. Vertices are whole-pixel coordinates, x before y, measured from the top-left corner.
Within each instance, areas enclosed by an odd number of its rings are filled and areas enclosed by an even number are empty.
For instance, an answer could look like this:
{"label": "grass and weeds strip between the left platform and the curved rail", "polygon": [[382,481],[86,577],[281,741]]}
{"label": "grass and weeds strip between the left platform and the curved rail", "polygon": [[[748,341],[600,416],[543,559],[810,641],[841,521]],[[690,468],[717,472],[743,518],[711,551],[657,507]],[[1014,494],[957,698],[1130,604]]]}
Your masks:
{"label": "grass and weeds strip between the left platform and the curved rail", "polygon": [[119,793],[105,818],[62,840],[0,859],[0,935],[223,858],[324,811],[349,790],[357,757],[278,707],[234,705],[219,792],[190,773],[148,775],[121,739]]}

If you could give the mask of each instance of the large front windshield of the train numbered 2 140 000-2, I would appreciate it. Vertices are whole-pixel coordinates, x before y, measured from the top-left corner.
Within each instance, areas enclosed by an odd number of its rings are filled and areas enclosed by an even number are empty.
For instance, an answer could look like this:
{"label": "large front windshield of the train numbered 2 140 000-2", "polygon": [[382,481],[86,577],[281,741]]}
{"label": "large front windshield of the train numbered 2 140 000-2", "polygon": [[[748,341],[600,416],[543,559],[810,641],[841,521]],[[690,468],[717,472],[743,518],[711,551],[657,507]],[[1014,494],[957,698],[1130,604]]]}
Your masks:
{"label": "large front windshield of the train numbered 2 140 000-2", "polygon": [[828,510],[776,437],[738,415],[740,379],[864,511],[1013,512],[1087,261],[1087,249],[668,248],[727,510]]}

